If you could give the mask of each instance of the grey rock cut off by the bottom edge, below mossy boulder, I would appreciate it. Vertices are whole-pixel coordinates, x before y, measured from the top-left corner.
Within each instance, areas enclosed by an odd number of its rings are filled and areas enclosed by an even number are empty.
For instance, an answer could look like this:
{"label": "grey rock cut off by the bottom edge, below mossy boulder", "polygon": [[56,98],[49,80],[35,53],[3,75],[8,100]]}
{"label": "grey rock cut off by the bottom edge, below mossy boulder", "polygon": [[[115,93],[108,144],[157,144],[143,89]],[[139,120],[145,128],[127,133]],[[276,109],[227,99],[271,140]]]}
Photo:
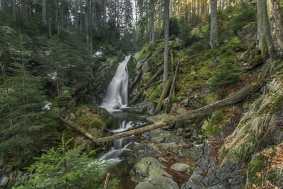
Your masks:
{"label": "grey rock cut off by the bottom edge, below mossy boulder", "polygon": [[135,189],[178,189],[178,184],[172,178],[158,176],[151,181],[139,183]]}

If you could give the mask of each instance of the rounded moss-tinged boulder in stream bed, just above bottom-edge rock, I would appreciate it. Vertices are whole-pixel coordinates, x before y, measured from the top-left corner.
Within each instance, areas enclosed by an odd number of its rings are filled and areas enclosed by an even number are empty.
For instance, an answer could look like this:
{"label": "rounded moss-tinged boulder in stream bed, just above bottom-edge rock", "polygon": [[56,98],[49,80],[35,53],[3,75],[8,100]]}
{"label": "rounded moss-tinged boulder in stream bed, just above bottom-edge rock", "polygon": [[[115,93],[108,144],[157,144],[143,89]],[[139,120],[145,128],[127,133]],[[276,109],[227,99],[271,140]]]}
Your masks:
{"label": "rounded moss-tinged boulder in stream bed, just above bottom-edge rock", "polygon": [[156,158],[145,157],[134,165],[134,173],[149,179],[154,179],[158,176],[171,177],[171,175],[164,171],[163,168],[165,168],[165,166],[163,166]]}

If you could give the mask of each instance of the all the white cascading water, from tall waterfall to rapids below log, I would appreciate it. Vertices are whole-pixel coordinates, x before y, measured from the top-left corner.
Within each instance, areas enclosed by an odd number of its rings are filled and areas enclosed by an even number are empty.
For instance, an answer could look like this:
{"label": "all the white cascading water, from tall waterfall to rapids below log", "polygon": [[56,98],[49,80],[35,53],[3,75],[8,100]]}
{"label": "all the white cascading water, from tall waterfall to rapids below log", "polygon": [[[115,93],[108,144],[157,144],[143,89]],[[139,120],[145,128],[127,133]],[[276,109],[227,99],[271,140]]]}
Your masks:
{"label": "all the white cascading water, from tall waterfall to rapids below log", "polygon": [[[105,96],[105,100],[100,105],[102,108],[108,110],[109,113],[112,113],[117,118],[120,118],[120,128],[117,130],[112,130],[115,134],[117,132],[122,132],[129,130],[133,127],[142,125],[144,122],[129,121],[125,120],[125,115],[122,115],[122,110],[127,108],[128,103],[128,81],[129,74],[127,69],[127,64],[129,62],[130,56],[125,57],[123,62],[120,62],[117,67],[117,71],[112,81],[108,86],[108,90]],[[122,115],[122,119],[121,119]],[[127,117],[127,116],[126,116]],[[129,151],[129,147],[132,142],[128,144],[124,138],[117,139],[113,141],[113,146],[106,154],[104,154],[101,159],[108,159],[112,161],[120,161],[119,157],[124,151]]]}

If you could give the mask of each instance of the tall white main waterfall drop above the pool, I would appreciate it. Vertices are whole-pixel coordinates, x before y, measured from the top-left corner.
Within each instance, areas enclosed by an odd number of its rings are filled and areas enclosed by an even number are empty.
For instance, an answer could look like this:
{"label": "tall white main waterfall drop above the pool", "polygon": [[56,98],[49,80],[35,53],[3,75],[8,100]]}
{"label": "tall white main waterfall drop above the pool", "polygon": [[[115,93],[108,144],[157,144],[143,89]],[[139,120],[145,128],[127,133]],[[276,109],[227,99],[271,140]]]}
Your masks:
{"label": "tall white main waterfall drop above the pool", "polygon": [[105,99],[100,105],[109,112],[119,111],[122,108],[127,108],[128,103],[128,81],[129,74],[127,64],[131,56],[125,57],[125,60],[120,62],[117,71],[112,81],[110,82]]}

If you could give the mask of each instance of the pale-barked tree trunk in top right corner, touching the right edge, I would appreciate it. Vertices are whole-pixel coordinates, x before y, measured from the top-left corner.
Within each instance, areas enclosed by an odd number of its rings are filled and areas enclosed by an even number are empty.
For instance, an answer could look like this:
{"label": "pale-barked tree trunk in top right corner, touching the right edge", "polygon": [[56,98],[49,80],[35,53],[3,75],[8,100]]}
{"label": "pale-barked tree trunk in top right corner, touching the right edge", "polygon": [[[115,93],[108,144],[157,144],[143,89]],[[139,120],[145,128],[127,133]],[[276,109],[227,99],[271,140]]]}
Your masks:
{"label": "pale-barked tree trunk in top right corner, touching the right edge", "polygon": [[282,17],[279,13],[279,1],[267,0],[267,11],[270,21],[270,30],[273,46],[279,57],[283,57],[283,26]]}

